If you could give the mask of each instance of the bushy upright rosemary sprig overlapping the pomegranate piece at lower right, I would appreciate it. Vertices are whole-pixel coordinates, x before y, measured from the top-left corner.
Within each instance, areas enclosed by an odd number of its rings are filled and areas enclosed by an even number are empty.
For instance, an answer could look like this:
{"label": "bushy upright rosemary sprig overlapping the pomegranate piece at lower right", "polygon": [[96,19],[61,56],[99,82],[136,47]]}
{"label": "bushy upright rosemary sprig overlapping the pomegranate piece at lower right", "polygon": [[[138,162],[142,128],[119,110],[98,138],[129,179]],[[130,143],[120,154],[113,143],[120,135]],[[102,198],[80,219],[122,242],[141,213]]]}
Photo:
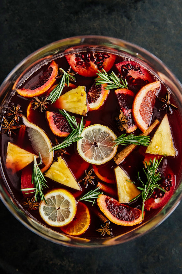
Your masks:
{"label": "bushy upright rosemary sprig overlapping the pomegranate piece at lower right", "polygon": [[143,181],[140,179],[139,173],[138,173],[138,180],[142,183],[143,187],[138,187],[138,189],[141,190],[141,193],[136,196],[134,199],[130,200],[132,202],[133,200],[137,199],[138,197],[142,196],[142,218],[143,218],[143,211],[144,211],[144,202],[149,199],[153,193],[154,188],[158,188],[165,192],[163,188],[160,187],[160,184],[157,182],[160,180],[160,173],[157,173],[157,168],[159,167],[159,164],[161,160],[159,161],[159,157],[156,159],[154,158],[153,161],[150,158],[149,163],[145,162],[146,164],[146,170],[143,168],[143,171],[147,177],[147,182],[143,183]]}

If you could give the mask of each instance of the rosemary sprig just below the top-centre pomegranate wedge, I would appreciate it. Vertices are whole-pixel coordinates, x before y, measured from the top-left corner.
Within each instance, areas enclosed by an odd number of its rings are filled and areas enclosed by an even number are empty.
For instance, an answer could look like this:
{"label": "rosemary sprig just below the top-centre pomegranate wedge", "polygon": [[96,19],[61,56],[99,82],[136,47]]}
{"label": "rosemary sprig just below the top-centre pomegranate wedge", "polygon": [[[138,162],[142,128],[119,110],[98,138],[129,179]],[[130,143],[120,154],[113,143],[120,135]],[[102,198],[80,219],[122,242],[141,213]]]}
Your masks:
{"label": "rosemary sprig just below the top-centre pomegranate wedge", "polygon": [[97,75],[99,78],[96,78],[96,85],[107,84],[105,90],[116,89],[116,88],[128,88],[126,79],[119,78],[113,71],[109,75],[107,72],[102,69],[98,70]]}

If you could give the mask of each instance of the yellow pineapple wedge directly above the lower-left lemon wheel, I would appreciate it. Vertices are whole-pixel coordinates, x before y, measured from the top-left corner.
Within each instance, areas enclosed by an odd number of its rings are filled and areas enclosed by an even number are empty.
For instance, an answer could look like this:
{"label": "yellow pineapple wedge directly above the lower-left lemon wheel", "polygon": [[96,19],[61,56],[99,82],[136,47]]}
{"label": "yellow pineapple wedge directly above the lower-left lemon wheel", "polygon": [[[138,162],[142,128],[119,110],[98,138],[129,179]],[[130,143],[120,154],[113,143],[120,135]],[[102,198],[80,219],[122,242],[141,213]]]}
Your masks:
{"label": "yellow pineapple wedge directly above the lower-left lemon wheel", "polygon": [[58,157],[58,162],[52,163],[45,176],[70,188],[81,190],[70,169],[61,157]]}

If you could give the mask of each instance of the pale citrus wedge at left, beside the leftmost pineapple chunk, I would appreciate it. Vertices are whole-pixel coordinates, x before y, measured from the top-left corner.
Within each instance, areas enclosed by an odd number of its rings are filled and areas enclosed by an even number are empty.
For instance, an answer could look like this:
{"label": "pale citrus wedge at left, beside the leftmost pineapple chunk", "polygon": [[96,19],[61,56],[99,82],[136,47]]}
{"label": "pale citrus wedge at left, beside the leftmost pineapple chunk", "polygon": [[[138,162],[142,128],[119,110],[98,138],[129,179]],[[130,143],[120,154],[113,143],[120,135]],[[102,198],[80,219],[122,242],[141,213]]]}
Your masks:
{"label": "pale citrus wedge at left, beside the leftmost pineapple chunk", "polygon": [[30,123],[24,116],[22,116],[22,120],[24,125],[27,127],[27,133],[33,150],[37,155],[39,152],[41,154],[42,162],[45,165],[41,171],[44,172],[50,167],[53,161],[53,151],[49,152],[52,148],[51,142],[45,132],[37,125]]}

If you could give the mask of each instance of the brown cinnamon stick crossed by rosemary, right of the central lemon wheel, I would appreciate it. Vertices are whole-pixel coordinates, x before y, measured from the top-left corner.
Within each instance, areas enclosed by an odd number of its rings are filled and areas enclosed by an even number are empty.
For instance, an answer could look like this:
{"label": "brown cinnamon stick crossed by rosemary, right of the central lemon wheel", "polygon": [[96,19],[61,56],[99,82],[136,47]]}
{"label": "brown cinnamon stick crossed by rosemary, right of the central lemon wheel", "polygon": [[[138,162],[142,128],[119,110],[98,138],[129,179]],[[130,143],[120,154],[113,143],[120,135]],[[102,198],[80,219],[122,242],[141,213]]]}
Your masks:
{"label": "brown cinnamon stick crossed by rosemary, right of the central lemon wheel", "polygon": [[[151,124],[148,129],[145,131],[145,133],[141,133],[140,135],[147,136],[149,135],[152,130],[159,124],[159,120],[156,119],[153,124]],[[114,161],[117,165],[121,164],[121,162],[135,149],[137,145],[131,144],[127,145],[122,151],[118,152],[114,156]]]}

